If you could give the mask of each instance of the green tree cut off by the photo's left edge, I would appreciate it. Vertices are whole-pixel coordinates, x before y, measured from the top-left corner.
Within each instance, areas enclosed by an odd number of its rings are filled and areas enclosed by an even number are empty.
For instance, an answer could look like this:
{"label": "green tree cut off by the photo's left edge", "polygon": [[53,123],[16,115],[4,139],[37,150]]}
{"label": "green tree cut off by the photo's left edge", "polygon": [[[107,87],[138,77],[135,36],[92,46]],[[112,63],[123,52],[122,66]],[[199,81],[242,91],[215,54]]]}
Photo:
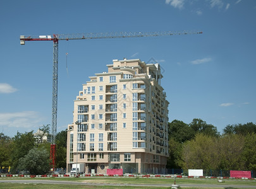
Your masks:
{"label": "green tree cut off by the photo's left edge", "polygon": [[10,137],[0,133],[0,169],[11,165],[10,154],[12,142]]}

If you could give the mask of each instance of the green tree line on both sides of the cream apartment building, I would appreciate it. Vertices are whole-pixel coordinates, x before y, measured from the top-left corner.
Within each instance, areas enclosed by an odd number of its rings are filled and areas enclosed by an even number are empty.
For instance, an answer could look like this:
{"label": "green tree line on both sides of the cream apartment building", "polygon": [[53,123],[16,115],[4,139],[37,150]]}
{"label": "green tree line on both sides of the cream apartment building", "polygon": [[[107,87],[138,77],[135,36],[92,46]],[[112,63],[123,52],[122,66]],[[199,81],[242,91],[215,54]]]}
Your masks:
{"label": "green tree line on both sides of the cream apartment building", "polygon": [[[256,125],[227,125],[223,133],[214,125],[195,118],[187,124],[180,120],[168,123],[169,158],[167,168],[256,170]],[[27,170],[40,175],[49,171],[51,144],[42,140],[49,134],[43,125],[40,137],[33,131],[17,132],[11,138],[0,133],[0,168],[11,173]],[[66,167],[66,131],[56,135],[56,167]]]}

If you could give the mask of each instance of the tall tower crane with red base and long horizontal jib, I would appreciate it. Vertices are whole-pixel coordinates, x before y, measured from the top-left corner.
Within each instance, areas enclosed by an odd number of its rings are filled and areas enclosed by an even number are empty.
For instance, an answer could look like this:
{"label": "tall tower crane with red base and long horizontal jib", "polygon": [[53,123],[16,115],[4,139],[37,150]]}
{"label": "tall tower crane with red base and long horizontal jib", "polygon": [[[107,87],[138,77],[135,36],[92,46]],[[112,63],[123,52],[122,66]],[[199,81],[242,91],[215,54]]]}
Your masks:
{"label": "tall tower crane with red base and long horizontal jib", "polygon": [[80,33],[80,34],[53,34],[25,36],[20,35],[20,44],[26,41],[52,41],[53,42],[53,71],[52,71],[52,128],[51,128],[51,165],[55,168],[56,130],[57,130],[57,104],[58,104],[58,44],[59,40],[90,40],[101,38],[131,38],[131,37],[161,37],[168,35],[200,34],[202,31],[154,31],[154,32],[111,32],[111,33]]}

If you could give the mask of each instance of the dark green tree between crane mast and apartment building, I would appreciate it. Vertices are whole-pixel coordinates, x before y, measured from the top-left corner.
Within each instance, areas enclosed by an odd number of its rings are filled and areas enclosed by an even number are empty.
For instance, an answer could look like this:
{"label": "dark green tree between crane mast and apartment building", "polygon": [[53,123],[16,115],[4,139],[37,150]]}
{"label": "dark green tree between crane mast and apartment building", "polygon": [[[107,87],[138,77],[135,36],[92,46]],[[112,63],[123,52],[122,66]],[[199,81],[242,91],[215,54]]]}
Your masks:
{"label": "dark green tree between crane mast and apartment building", "polygon": [[56,135],[56,167],[66,168],[66,140],[67,132],[62,130]]}

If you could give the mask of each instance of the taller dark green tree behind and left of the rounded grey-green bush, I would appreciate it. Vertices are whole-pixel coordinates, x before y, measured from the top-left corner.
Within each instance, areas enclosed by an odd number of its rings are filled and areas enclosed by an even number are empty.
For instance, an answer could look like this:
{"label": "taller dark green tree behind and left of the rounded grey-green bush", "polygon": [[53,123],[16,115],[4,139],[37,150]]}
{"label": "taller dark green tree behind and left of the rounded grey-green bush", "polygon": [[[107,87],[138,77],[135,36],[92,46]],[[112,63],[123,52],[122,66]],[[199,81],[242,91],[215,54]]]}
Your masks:
{"label": "taller dark green tree behind and left of the rounded grey-green bush", "polygon": [[13,138],[13,147],[11,151],[11,172],[16,172],[18,160],[28,154],[28,151],[35,146],[33,131],[21,134],[17,132]]}

